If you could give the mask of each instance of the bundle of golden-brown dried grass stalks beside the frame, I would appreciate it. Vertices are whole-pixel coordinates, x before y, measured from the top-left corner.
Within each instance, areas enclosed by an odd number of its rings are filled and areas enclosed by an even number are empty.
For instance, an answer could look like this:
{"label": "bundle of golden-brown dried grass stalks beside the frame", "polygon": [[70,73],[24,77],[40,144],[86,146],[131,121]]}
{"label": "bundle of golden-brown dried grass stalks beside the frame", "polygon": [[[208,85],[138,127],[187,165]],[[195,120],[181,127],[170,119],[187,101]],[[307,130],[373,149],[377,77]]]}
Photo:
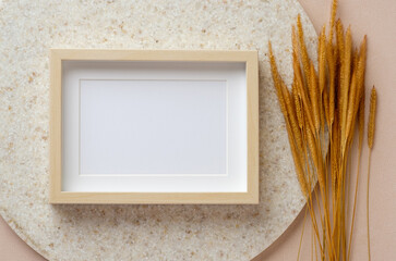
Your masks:
{"label": "bundle of golden-brown dried grass stalks beside the frame", "polygon": [[[360,167],[356,175],[352,222],[347,227],[350,217],[346,212],[350,182],[347,178],[351,176],[348,164],[355,128],[358,127],[360,165],[367,61],[365,36],[360,48],[353,49],[351,29],[348,27],[345,32],[343,22],[336,21],[336,10],[335,0],[328,34],[326,36],[323,26],[319,37],[317,70],[308,55],[298,16],[297,27],[293,26],[291,33],[295,78],[290,88],[278,73],[273,48],[268,42],[274,86],[285,117],[298,182],[312,220],[315,238],[312,248],[316,254],[319,252],[321,260],[332,261],[350,259]],[[370,149],[374,136],[375,101],[373,89],[368,132]],[[317,202],[319,211],[314,210],[313,202]]]}

